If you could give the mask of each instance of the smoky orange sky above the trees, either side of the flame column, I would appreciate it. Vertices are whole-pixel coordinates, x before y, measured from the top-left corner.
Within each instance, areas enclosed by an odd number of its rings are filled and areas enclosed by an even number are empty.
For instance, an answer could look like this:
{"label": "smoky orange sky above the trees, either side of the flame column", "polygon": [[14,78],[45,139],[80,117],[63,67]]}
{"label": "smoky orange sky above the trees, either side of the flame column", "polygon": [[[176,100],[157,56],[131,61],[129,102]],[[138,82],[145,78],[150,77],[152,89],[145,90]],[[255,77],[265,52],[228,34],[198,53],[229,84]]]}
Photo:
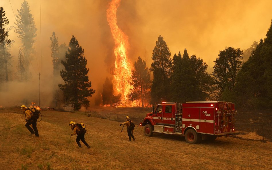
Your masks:
{"label": "smoky orange sky above the trees, either side of the flame column", "polygon": [[[10,0],[15,14],[22,2]],[[9,0],[1,0],[0,3],[10,21],[9,27],[14,26],[15,22],[10,3]],[[50,36],[55,32],[59,44],[68,44],[72,35],[77,38],[88,60],[92,88],[98,92],[114,65],[114,41],[106,19],[108,1],[41,0],[41,22],[40,1],[28,0],[28,3],[38,29],[35,43],[38,65],[42,58],[42,70],[37,69],[36,62],[34,69],[41,72],[43,84],[53,72],[49,46]],[[253,41],[259,42],[260,38],[265,38],[271,24],[271,11],[271,0],[121,0],[117,24],[129,37],[128,58],[132,63],[141,56],[150,67],[152,50],[158,36],[162,35],[171,56],[178,51],[183,53],[186,48],[189,55],[202,58],[211,72],[220,50],[228,46],[245,49]],[[10,51],[15,68],[18,47],[22,44],[13,28],[9,34],[9,39],[15,41]]]}

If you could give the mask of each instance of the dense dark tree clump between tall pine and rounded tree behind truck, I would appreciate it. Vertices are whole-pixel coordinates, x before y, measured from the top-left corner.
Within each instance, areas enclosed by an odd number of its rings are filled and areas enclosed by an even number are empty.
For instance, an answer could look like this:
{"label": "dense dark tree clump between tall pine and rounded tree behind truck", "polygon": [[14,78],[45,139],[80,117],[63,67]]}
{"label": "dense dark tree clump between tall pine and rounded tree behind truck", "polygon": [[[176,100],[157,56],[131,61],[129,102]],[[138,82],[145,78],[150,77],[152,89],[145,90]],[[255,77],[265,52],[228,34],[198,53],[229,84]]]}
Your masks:
{"label": "dense dark tree clump between tall pine and rounded tree behind truck", "polygon": [[183,56],[180,52],[173,56],[173,74],[171,76],[171,101],[202,101],[209,96],[211,76],[202,59],[192,55],[189,58],[186,48]]}

